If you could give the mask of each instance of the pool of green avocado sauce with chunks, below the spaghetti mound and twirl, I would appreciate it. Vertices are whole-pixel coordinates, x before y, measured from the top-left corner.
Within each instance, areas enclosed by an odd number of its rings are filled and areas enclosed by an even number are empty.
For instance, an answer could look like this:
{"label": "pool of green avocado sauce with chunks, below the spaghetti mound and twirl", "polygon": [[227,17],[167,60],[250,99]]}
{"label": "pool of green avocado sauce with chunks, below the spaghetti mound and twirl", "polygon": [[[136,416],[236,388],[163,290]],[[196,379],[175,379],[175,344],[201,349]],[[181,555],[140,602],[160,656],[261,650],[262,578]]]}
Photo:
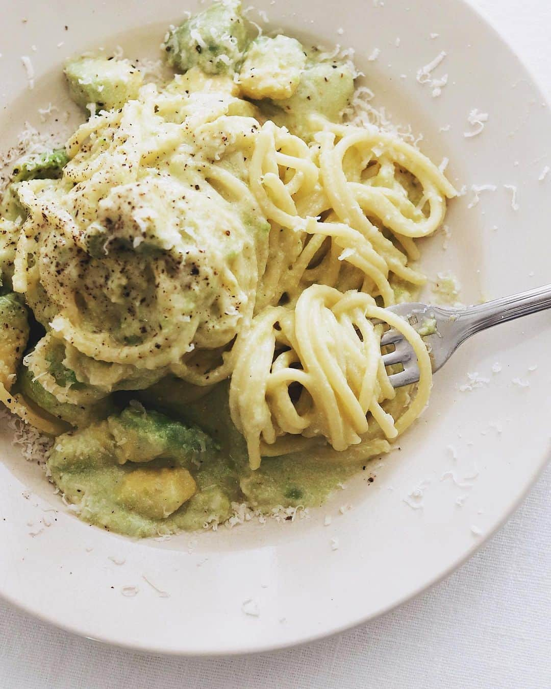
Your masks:
{"label": "pool of green avocado sauce with chunks, below the spaghetti mound and twirl", "polygon": [[230,420],[226,384],[186,404],[184,413],[177,407],[176,415],[179,421],[133,402],[119,415],[57,438],[47,467],[80,517],[133,536],[175,533],[224,522],[241,502],[268,512],[319,506],[356,471],[355,464],[314,455],[300,462],[274,457],[251,471]]}

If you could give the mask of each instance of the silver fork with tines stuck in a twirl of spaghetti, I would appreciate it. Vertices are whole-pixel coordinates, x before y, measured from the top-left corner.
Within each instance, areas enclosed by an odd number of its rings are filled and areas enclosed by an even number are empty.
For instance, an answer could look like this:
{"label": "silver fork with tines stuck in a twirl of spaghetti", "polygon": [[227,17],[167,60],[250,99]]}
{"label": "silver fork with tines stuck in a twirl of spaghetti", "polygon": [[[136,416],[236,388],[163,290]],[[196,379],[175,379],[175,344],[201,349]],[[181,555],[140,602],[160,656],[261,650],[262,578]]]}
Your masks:
{"label": "silver fork with tines stuck in a twirl of spaghetti", "polygon": [[[498,323],[550,308],[551,285],[544,285],[476,306],[451,308],[412,302],[391,306],[389,311],[407,320],[416,330],[420,327],[422,329],[427,321],[435,320],[435,333],[423,338],[429,349],[434,373],[444,366],[457,347],[471,335]],[[402,333],[391,328],[383,333],[380,343],[381,346],[395,346],[394,351],[383,355],[385,366],[402,364],[404,367],[400,373],[389,376],[392,386],[398,388],[418,382],[417,357]]]}

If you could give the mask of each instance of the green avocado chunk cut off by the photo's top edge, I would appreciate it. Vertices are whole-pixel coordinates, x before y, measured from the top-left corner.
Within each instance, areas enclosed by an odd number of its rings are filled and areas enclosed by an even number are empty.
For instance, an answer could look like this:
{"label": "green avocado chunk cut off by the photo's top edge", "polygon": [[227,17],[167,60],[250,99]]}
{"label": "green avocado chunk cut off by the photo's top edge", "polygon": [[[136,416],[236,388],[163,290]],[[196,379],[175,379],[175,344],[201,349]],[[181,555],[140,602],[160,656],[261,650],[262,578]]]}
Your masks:
{"label": "green avocado chunk cut off by the photo's top edge", "polygon": [[199,67],[206,74],[235,70],[248,43],[239,0],[215,2],[184,21],[165,39],[166,60],[180,72]]}

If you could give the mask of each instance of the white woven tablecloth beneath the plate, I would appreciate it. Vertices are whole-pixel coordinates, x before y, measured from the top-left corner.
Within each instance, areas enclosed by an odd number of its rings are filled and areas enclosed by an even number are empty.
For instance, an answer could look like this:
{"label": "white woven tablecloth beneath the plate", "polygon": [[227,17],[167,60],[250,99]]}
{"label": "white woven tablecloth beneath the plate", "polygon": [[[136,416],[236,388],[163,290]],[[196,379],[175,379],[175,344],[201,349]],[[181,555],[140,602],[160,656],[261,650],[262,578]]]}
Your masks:
{"label": "white woven tablecloth beneath the plate", "polygon": [[[549,0],[471,1],[551,96]],[[140,655],[73,637],[0,601],[0,689],[549,688],[550,498],[548,467],[510,522],[445,582],[340,637],[278,653]]]}

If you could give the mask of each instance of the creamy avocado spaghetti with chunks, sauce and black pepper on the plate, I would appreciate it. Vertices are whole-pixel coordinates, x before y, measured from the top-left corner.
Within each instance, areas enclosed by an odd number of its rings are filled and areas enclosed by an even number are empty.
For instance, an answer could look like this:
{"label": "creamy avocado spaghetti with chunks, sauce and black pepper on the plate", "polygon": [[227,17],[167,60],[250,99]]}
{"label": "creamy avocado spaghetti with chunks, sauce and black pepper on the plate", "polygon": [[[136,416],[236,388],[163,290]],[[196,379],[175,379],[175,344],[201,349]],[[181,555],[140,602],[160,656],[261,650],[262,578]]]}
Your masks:
{"label": "creamy avocado spaghetti with chunks, sauce and black pepper on the plate", "polygon": [[[86,121],[0,212],[0,400],[54,438],[81,519],[130,536],[318,506],[424,409],[429,353],[388,311],[426,278],[444,174],[353,116],[358,72],[238,0],[171,27],[162,83],[65,65]],[[420,381],[393,389],[387,326]]]}

